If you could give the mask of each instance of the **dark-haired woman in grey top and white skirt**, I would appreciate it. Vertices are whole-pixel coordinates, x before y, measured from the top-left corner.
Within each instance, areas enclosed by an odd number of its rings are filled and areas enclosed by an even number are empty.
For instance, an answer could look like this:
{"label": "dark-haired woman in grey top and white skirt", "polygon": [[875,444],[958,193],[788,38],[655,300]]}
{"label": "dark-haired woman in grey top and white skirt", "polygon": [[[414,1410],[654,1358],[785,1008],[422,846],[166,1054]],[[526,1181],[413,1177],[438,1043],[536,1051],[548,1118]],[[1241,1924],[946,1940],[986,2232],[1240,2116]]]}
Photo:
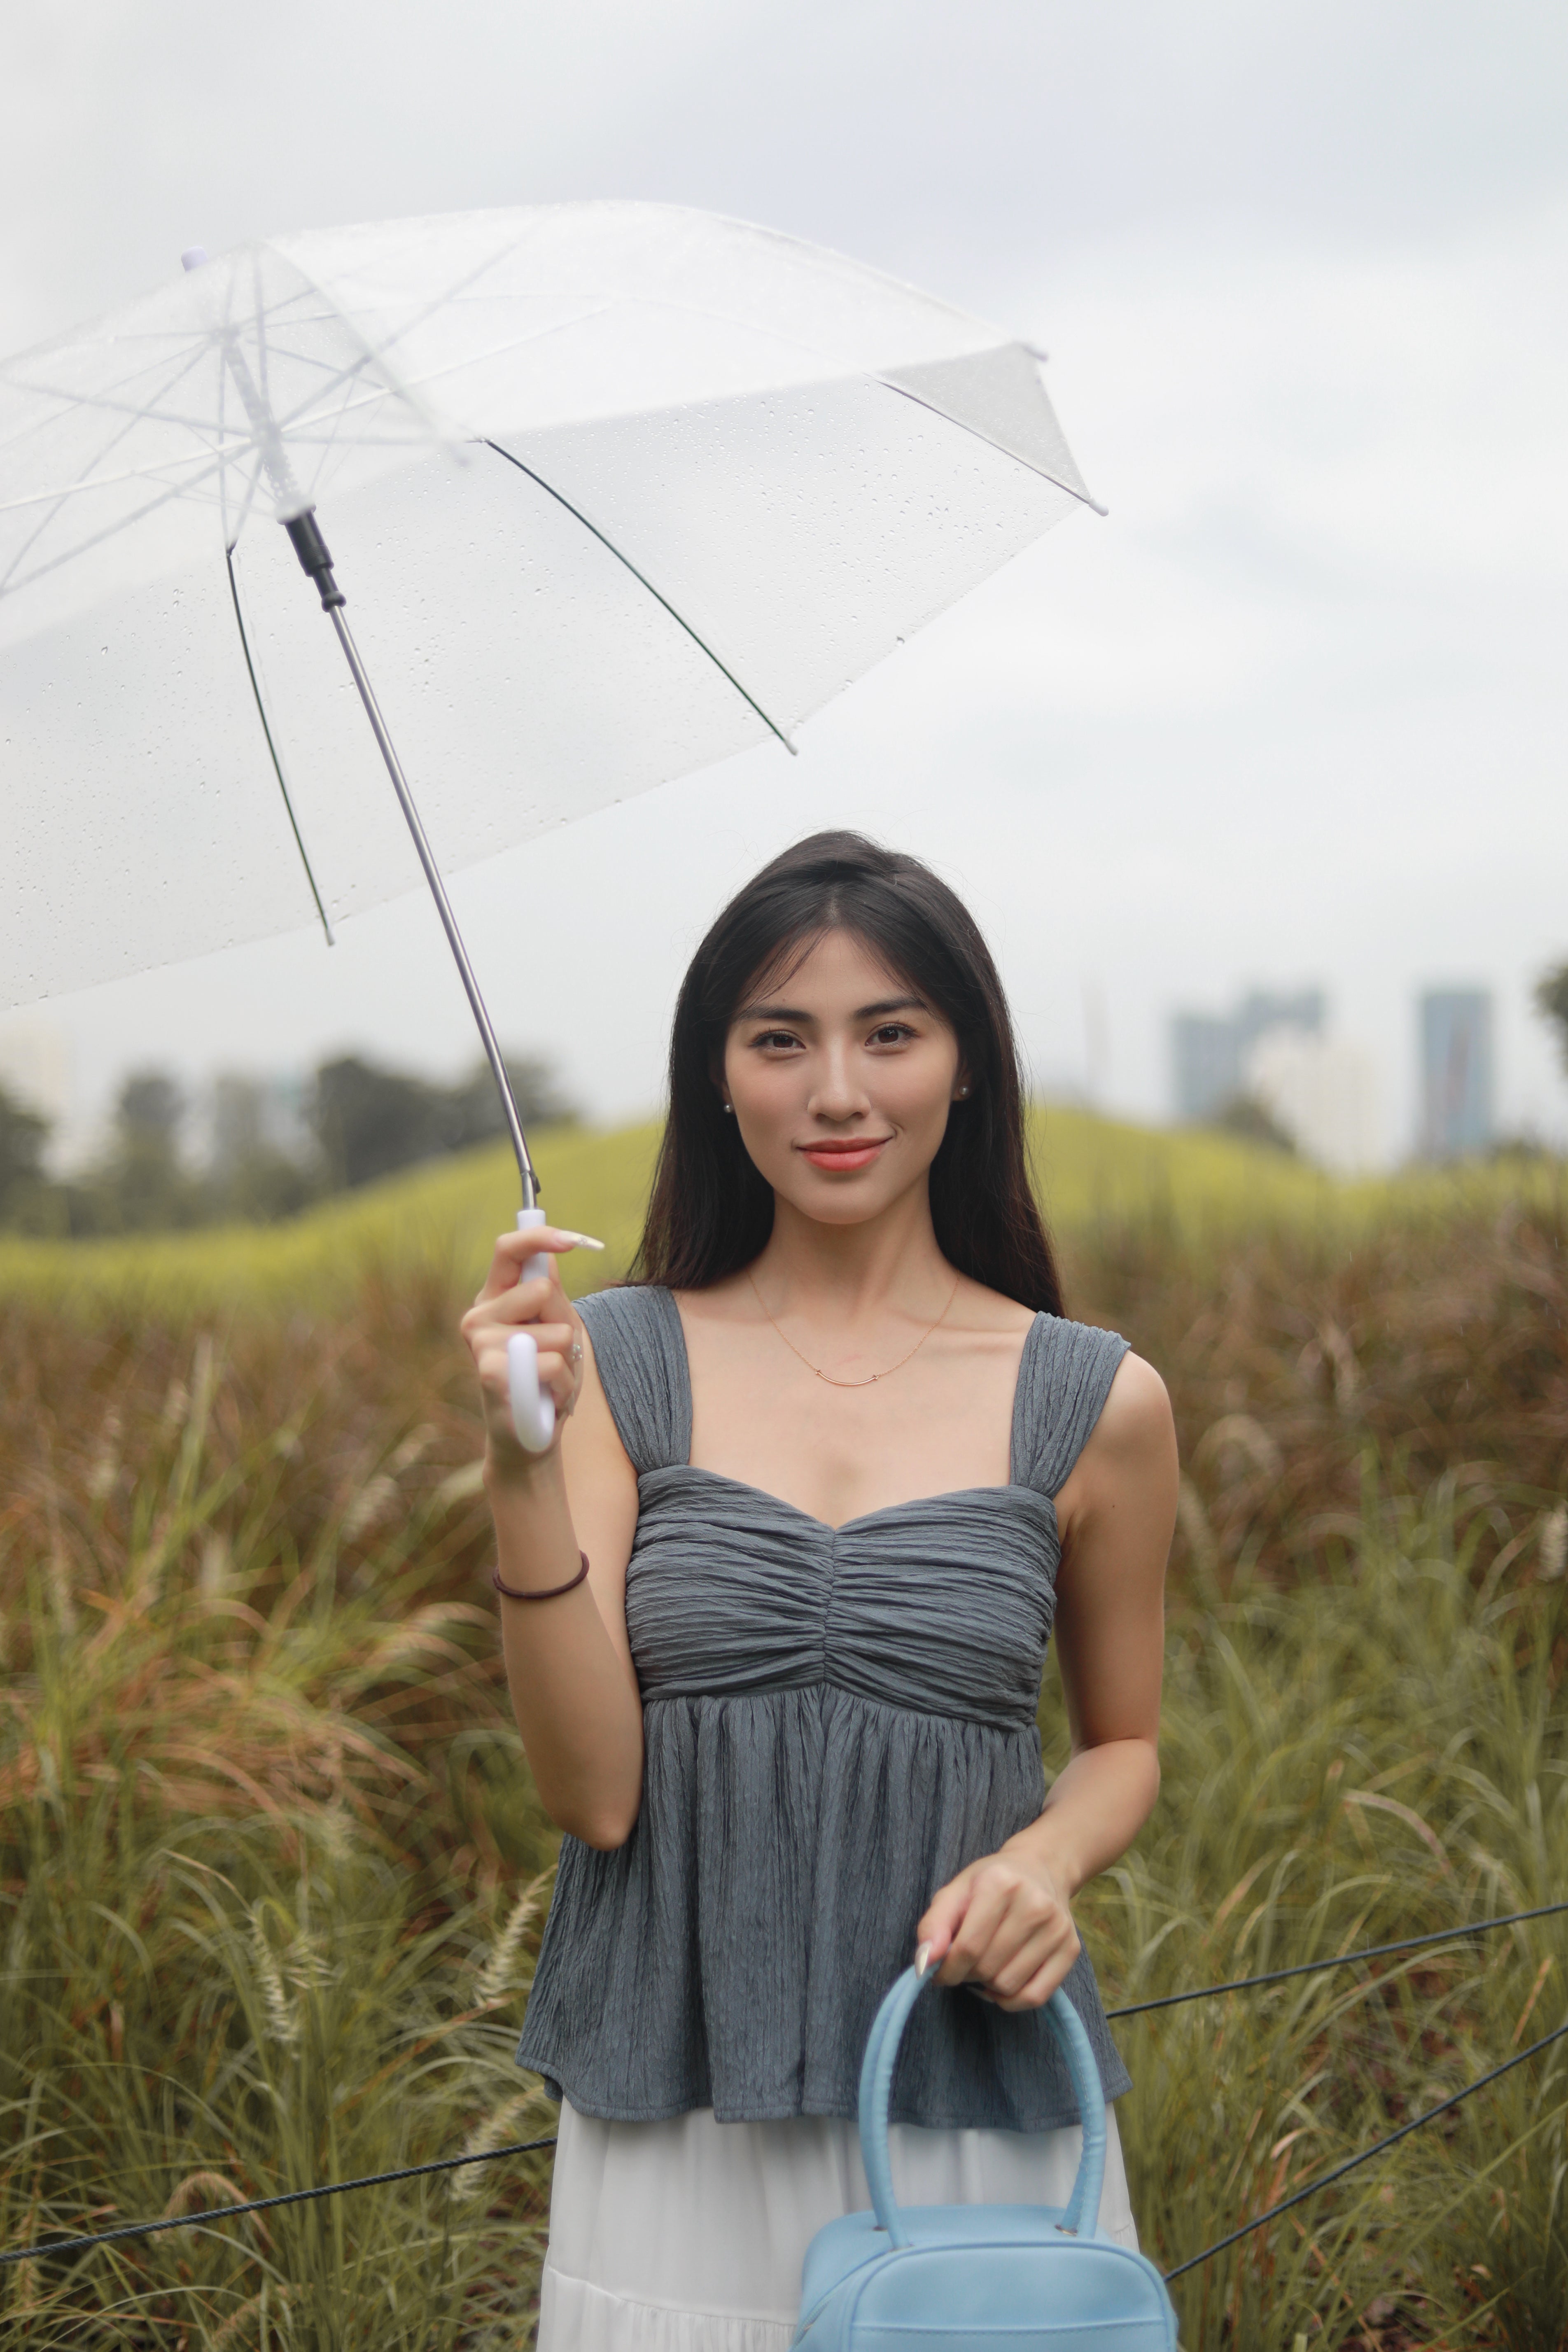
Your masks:
{"label": "dark-haired woman in grey top and white skirt", "polygon": [[[893,2166],[1065,2201],[1072,1926],[1159,1790],[1164,1385],[1065,1322],[1006,1002],[952,891],[788,849],[686,974],[639,1282],[567,1303],[505,1235],[463,1322],[505,1670],[567,1832],[522,2065],[562,2096],[541,2352],[783,2352],[867,2206],[865,2030],[917,1945]],[[524,1454],[527,1324],[562,1437]],[[1034,1708],[1056,1628],[1072,1762]],[[1107,2110],[1110,2114],[1110,2110]],[[1103,2223],[1135,2244],[1110,2114]]]}

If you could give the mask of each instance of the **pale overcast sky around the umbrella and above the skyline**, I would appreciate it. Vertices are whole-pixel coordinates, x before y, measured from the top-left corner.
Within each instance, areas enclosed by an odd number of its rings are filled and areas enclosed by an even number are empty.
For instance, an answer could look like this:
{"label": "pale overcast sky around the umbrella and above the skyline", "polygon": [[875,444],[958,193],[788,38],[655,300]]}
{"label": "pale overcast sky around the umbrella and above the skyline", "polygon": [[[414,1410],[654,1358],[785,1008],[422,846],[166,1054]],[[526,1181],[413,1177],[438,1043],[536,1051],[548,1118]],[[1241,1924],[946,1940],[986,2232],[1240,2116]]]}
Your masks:
{"label": "pale overcast sky around the umbrella and above the skyline", "polygon": [[[856,823],[985,922],[1039,1084],[1168,1110],[1166,1025],[1324,983],[1410,1143],[1415,995],[1476,981],[1500,1115],[1568,1138],[1568,16],[1516,0],[12,0],[0,348],[334,221],[618,195],[816,238],[1051,353],[1070,520],[759,750],[456,898],[498,1028],[658,1098],[705,922]],[[404,903],[0,1016],[73,1122],[357,1047],[473,1058]]]}

